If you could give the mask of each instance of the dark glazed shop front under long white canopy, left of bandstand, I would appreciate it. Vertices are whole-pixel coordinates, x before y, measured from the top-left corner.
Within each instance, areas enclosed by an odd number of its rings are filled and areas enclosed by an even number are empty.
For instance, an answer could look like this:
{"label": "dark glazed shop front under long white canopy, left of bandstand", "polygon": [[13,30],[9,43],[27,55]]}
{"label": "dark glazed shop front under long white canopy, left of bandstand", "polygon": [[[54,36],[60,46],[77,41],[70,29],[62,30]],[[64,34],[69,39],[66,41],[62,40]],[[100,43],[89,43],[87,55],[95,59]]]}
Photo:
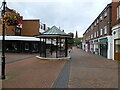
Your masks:
{"label": "dark glazed shop front under long white canopy, left of bandstand", "polygon": [[[0,41],[2,36],[0,37]],[[38,53],[39,39],[25,36],[5,36],[5,51],[10,53]]]}

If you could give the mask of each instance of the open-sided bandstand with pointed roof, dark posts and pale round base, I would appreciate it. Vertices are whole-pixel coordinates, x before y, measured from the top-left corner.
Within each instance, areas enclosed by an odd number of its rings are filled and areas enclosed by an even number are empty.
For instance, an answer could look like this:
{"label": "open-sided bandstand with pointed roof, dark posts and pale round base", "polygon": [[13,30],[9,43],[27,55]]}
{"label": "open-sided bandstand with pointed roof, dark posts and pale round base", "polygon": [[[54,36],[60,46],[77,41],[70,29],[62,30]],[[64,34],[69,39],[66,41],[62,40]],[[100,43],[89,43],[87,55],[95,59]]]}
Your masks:
{"label": "open-sided bandstand with pointed roof, dark posts and pale round base", "polygon": [[37,58],[52,60],[70,58],[67,41],[68,38],[71,38],[69,34],[53,26],[36,37],[40,38],[40,56],[36,56]]}

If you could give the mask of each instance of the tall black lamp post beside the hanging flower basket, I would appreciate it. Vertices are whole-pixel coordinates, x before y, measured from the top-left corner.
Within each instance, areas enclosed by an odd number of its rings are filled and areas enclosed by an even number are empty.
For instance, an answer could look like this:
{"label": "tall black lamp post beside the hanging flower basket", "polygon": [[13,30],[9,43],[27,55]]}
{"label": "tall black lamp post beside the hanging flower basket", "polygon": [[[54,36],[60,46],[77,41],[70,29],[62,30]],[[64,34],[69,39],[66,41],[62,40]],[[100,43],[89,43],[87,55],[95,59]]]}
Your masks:
{"label": "tall black lamp post beside the hanging flower basket", "polygon": [[[3,10],[2,10],[2,16],[4,17],[5,14],[5,6],[6,2],[5,0],[2,2],[3,3]],[[3,25],[2,25],[2,79],[5,79],[5,20],[3,18]]]}

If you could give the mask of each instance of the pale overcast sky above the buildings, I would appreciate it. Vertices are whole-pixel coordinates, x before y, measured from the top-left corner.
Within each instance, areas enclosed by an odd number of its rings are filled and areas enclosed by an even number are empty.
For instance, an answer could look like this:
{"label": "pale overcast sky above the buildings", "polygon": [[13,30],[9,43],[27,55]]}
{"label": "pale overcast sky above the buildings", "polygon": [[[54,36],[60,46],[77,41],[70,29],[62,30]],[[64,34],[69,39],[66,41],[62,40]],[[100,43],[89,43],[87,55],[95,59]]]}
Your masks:
{"label": "pale overcast sky above the buildings", "polygon": [[[3,0],[0,0],[1,3]],[[111,3],[111,0],[6,0],[7,6],[19,12],[24,19],[40,19],[66,33],[78,31],[79,37]]]}

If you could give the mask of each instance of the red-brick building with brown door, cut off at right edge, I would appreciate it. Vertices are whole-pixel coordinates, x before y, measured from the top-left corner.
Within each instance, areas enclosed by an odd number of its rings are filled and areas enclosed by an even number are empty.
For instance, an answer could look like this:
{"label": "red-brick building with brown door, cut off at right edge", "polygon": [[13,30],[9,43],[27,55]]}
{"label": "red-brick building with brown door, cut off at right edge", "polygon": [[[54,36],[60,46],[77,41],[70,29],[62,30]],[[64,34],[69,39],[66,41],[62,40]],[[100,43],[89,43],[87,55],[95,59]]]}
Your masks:
{"label": "red-brick building with brown door, cut off at right edge", "polygon": [[115,6],[115,21],[112,27],[113,36],[113,59],[120,60],[120,1]]}

